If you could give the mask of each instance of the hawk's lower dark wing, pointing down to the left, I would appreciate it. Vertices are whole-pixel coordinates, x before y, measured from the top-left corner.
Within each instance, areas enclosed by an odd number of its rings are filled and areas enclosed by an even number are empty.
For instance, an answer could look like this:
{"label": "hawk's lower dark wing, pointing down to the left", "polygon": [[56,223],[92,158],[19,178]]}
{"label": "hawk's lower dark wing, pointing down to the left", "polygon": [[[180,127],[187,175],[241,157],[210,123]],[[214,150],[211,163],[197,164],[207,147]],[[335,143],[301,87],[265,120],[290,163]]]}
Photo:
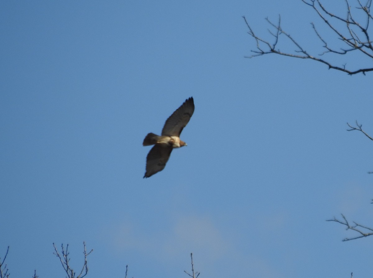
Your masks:
{"label": "hawk's lower dark wing, pointing down to the left", "polygon": [[151,148],[146,157],[146,172],[144,178],[162,171],[170,158],[172,146],[168,144],[156,144]]}

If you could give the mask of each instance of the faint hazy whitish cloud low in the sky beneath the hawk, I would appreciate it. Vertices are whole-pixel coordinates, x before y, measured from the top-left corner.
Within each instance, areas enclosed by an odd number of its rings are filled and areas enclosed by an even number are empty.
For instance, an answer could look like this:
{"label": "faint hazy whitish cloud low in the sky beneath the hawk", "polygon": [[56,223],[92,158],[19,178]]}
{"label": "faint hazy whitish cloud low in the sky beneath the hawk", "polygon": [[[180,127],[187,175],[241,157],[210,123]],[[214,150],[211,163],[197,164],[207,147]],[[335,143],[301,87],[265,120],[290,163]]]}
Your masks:
{"label": "faint hazy whitish cloud low in the sky beneath the hawk", "polygon": [[[283,215],[273,215],[268,219],[270,222],[276,223],[275,226],[281,225],[279,222],[283,223]],[[260,255],[242,253],[237,246],[234,247],[232,239],[223,236],[226,233],[207,216],[175,215],[171,223],[157,232],[148,233],[130,221],[125,221],[112,231],[113,243],[118,252],[135,251],[144,257],[167,263],[175,258],[182,258],[184,263],[188,254],[193,253],[196,270],[203,270],[207,276],[284,277]],[[230,261],[229,265],[226,265],[227,261]],[[185,265],[188,266],[188,262]]]}

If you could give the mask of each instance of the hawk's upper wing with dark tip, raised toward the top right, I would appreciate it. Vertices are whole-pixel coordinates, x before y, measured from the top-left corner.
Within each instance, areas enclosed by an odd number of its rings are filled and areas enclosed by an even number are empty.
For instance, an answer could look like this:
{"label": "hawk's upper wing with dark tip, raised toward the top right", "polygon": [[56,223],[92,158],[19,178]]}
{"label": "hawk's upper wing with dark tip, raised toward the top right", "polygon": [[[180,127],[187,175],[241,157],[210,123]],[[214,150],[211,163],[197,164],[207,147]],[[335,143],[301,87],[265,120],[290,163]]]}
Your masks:
{"label": "hawk's upper wing with dark tip, raised toward the top right", "polygon": [[188,98],[171,116],[169,116],[162,129],[162,135],[180,137],[181,131],[186,124],[188,124],[193,112],[193,98]]}

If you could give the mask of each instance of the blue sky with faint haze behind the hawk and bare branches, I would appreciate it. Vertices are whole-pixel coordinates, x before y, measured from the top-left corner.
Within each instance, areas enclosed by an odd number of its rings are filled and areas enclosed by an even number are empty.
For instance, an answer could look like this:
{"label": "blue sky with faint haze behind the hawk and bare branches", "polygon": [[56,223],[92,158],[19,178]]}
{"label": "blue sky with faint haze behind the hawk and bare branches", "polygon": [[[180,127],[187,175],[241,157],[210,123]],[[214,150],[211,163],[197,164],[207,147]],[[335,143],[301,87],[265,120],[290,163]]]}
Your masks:
{"label": "blue sky with faint haze behind the hawk and bare branches", "polygon": [[[255,42],[242,16],[270,38],[264,18],[279,14],[322,52],[310,26],[322,22],[297,0],[1,1],[10,274],[64,275],[53,242],[77,270],[85,241],[88,277],[127,264],[131,277],[186,277],[191,252],[202,278],[371,275],[372,238],[342,242],[353,234],[325,220],[372,223],[372,144],[346,131],[358,120],[373,134],[372,74],[244,58]],[[188,147],[142,179],[142,140],[190,96]]]}

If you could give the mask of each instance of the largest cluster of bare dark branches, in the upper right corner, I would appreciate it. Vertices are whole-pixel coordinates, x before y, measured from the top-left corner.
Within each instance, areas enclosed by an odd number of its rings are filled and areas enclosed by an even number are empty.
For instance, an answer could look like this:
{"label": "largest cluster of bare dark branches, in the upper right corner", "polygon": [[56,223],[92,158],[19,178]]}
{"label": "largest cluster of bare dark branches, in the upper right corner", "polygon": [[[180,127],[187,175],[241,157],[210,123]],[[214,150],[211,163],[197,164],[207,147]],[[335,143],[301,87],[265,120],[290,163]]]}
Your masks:
{"label": "largest cluster of bare dark branches, in the upper right corner", "polygon": [[[329,47],[327,41],[323,39],[323,37],[320,35],[319,32],[317,32],[316,27],[313,23],[311,23],[312,28],[316,32],[316,35],[318,38],[322,41],[323,47],[326,49],[322,54],[319,54],[320,56],[325,54],[325,53],[334,53],[334,54],[347,54],[349,52],[358,50],[364,55],[366,55],[369,58],[373,58],[373,45],[372,41],[369,36],[368,28],[369,28],[369,23],[370,20],[373,19],[372,14],[370,13],[370,6],[372,4],[372,0],[367,0],[367,3],[363,5],[360,0],[357,0],[358,2],[358,7],[356,9],[362,10],[366,19],[366,23],[363,25],[359,23],[351,14],[351,6],[348,3],[348,0],[345,0],[345,3],[347,5],[347,16],[344,17],[339,17],[334,15],[333,13],[330,13],[328,10],[325,9],[325,7],[322,5],[320,0],[302,0],[303,3],[307,4],[308,6],[312,7],[317,15],[326,23],[326,25],[336,34],[336,37],[344,42],[345,45],[347,45],[346,48],[340,48],[340,49],[332,49]],[[348,73],[350,75],[352,74],[357,74],[357,73],[365,73],[367,71],[373,71],[373,67],[371,68],[360,68],[355,71],[347,70],[345,68],[345,65],[342,66],[336,66],[332,65],[330,62],[326,61],[325,59],[321,59],[320,57],[315,57],[311,54],[309,54],[305,48],[301,47],[301,45],[295,41],[295,39],[287,32],[285,32],[281,28],[281,18],[279,17],[278,23],[273,23],[271,22],[268,18],[266,18],[267,22],[275,29],[275,32],[272,32],[269,30],[269,33],[273,36],[274,42],[271,43],[259,36],[257,36],[251,26],[249,25],[246,17],[243,17],[245,20],[245,23],[249,29],[248,34],[252,36],[255,41],[256,41],[256,50],[251,50],[254,54],[251,56],[247,56],[246,58],[252,58],[256,56],[261,56],[264,54],[270,54],[270,53],[275,53],[275,54],[280,54],[288,57],[294,57],[294,58],[302,58],[302,59],[311,59],[318,61],[320,63],[326,64],[329,69],[335,69],[335,70],[340,70],[345,73]],[[332,25],[332,23],[329,22],[328,18],[333,18],[338,20],[339,22],[344,23],[346,26],[346,31],[342,32],[339,31],[335,26]],[[358,33],[357,31],[361,32]],[[283,52],[280,51],[280,49],[277,47],[277,44],[279,42],[280,36],[284,35],[286,38],[288,38],[292,44],[295,45],[295,53],[288,53],[288,52]]]}

